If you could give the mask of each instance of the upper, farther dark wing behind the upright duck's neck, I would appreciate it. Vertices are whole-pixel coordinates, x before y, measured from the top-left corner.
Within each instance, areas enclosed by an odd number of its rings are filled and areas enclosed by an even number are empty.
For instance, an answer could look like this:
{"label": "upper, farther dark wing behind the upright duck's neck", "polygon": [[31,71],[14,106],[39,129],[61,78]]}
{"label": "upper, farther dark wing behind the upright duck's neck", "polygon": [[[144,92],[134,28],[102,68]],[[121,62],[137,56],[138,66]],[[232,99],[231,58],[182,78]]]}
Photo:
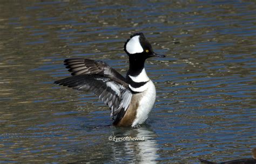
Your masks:
{"label": "upper, farther dark wing behind the upright duck's neck", "polygon": [[111,68],[107,63],[103,61],[95,61],[90,59],[66,59],[64,65],[69,68],[71,75],[104,75],[107,77],[115,77],[117,79],[125,81],[124,76],[119,74],[116,70]]}

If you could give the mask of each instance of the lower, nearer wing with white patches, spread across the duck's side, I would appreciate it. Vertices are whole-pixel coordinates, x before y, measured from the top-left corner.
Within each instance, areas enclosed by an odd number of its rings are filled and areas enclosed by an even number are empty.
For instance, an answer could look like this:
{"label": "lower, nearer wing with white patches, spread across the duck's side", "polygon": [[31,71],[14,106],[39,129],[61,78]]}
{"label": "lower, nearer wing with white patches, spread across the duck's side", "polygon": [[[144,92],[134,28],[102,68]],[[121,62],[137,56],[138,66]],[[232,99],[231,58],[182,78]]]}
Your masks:
{"label": "lower, nearer wing with white patches, spread across the duck's side", "polygon": [[92,91],[111,109],[113,119],[120,110],[129,107],[132,93],[128,84],[116,78],[102,75],[76,75],[55,81],[55,84],[64,85],[77,90]]}

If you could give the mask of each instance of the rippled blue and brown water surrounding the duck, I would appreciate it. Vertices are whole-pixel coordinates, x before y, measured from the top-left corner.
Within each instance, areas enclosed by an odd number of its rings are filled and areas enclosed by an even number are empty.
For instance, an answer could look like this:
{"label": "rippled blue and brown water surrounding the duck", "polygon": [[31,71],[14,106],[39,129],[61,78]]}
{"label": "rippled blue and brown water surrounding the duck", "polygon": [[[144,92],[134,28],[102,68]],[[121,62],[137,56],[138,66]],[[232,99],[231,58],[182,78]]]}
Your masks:
{"label": "rippled blue and brown water surrounding the duck", "polygon": [[[199,163],[256,147],[254,1],[0,1],[0,162]],[[66,58],[125,75],[144,32],[157,101],[139,129],[111,126],[88,92],[54,85]],[[109,137],[146,141],[109,141]]]}

